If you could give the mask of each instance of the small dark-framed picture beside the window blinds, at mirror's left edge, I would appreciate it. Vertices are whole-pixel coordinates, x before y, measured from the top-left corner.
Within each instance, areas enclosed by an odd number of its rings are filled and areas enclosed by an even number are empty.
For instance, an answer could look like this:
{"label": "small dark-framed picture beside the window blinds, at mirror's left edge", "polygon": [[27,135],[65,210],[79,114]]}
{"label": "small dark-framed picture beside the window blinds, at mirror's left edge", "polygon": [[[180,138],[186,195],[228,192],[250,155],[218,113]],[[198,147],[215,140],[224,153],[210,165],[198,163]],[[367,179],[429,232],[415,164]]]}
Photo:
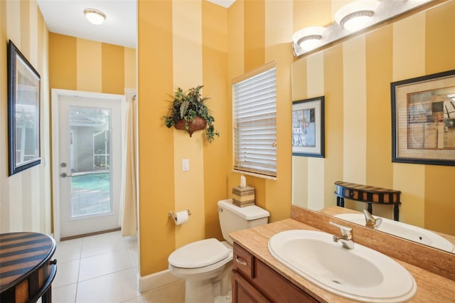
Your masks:
{"label": "small dark-framed picture beside the window blinds, at mirror's left edge", "polygon": [[292,102],[292,155],[324,157],[324,97]]}

